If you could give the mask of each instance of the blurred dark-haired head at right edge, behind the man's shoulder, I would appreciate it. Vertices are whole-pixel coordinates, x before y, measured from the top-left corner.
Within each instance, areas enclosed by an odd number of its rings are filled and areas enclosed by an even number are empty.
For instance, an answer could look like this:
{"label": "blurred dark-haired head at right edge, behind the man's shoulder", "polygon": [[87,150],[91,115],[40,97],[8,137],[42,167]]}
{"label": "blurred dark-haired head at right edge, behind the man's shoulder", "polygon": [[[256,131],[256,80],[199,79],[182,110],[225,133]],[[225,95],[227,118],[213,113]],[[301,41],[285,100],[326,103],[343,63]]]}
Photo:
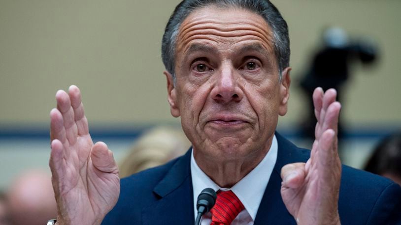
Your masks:
{"label": "blurred dark-haired head at right edge, behind the man's shoulder", "polygon": [[390,178],[401,185],[401,132],[379,142],[365,170]]}

